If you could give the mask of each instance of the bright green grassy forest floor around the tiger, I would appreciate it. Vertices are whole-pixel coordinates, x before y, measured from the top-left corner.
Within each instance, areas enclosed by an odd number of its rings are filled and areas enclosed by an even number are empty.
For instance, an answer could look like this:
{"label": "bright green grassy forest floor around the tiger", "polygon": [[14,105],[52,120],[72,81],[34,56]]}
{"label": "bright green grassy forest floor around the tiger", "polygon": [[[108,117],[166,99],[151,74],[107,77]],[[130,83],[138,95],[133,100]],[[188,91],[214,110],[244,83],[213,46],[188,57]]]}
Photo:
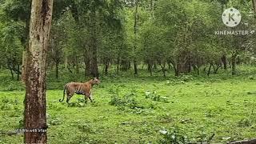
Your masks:
{"label": "bright green grassy forest floor around the tiger", "polygon": [[[8,79],[0,76],[1,81]],[[0,143],[21,143],[23,134],[5,133],[22,128],[25,90],[16,89],[22,84],[6,82],[0,82]],[[170,143],[182,138],[226,143],[255,138],[255,70],[209,78],[109,76],[94,86],[94,103],[86,104],[82,95],[74,95],[70,105],[58,102],[63,93],[59,83],[54,89],[49,82],[54,90],[46,91],[49,143]]]}

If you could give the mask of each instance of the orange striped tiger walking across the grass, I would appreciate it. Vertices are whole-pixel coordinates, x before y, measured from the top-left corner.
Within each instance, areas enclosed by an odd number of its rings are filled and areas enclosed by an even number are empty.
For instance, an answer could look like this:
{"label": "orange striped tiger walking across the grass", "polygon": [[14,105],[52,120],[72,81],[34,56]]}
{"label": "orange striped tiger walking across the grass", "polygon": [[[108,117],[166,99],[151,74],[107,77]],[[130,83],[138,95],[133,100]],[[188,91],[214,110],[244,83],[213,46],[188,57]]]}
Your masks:
{"label": "orange striped tiger walking across the grass", "polygon": [[81,83],[81,82],[69,82],[66,83],[63,90],[63,98],[59,99],[59,102],[63,102],[65,98],[65,92],[66,92],[66,103],[69,103],[70,98],[75,94],[82,94],[85,96],[85,101],[87,98],[90,99],[90,102],[93,102],[92,100],[92,94],[91,89],[96,84],[98,85],[100,81],[98,78],[93,78],[88,82]]}

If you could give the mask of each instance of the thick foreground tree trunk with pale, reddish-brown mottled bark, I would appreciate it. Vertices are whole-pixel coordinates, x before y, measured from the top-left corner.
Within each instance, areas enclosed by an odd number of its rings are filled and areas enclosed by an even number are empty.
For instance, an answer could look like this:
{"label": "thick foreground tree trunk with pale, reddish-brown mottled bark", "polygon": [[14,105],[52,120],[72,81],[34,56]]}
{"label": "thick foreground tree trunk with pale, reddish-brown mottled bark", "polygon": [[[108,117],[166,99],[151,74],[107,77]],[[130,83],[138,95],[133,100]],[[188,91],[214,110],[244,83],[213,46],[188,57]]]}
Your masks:
{"label": "thick foreground tree trunk with pale, reddish-brown mottled bark", "polygon": [[33,0],[26,58],[24,143],[46,143],[46,51],[53,0]]}

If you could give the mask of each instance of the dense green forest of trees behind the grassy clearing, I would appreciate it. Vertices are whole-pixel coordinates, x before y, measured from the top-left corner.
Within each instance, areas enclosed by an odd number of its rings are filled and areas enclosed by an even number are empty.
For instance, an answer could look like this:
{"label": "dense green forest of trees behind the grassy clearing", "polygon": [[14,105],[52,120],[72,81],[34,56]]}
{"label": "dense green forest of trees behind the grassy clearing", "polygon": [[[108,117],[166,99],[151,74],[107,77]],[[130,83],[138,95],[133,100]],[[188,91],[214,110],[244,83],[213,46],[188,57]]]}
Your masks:
{"label": "dense green forest of trees behind the grassy clearing", "polygon": [[[235,7],[242,22],[230,28],[222,12]],[[14,79],[25,73],[30,1],[2,0],[0,68]],[[47,70],[84,77],[142,69],[163,76],[216,74],[236,65],[255,64],[255,18],[249,0],[54,1]],[[249,30],[219,35],[217,30]]]}

